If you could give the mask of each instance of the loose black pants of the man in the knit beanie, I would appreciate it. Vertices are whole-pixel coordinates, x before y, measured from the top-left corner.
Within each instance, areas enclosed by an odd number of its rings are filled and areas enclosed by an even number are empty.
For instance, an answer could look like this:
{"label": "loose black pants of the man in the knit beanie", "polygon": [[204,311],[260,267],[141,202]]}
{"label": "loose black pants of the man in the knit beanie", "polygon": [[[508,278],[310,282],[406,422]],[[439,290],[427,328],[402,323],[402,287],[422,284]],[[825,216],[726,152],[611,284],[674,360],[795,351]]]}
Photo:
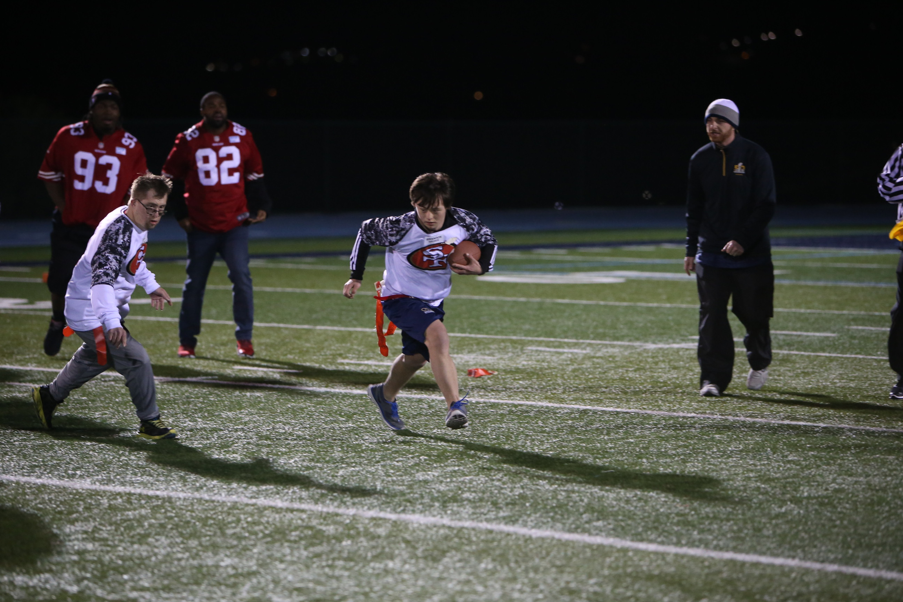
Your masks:
{"label": "loose black pants of the man in the knit beanie", "polygon": [[746,357],[753,370],[771,363],[771,335],[768,320],[774,314],[775,270],[768,264],[754,267],[722,268],[696,264],[699,291],[699,347],[697,356],[702,375],[724,391],[733,376],[734,341],[728,321],[728,300],[743,326]]}

